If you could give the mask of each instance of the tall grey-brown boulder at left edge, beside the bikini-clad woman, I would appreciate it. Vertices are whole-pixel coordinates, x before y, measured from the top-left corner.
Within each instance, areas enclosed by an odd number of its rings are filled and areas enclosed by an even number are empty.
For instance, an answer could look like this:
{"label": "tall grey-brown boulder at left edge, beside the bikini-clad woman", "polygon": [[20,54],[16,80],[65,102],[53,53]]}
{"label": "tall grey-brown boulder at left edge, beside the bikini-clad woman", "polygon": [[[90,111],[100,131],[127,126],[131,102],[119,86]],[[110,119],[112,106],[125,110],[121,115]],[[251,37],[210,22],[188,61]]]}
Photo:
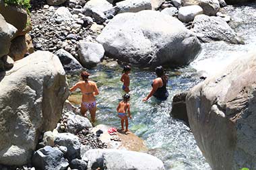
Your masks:
{"label": "tall grey-brown boulder at left edge, beside the bikini-clad woman", "polygon": [[40,133],[57,125],[67,96],[65,71],[51,52],[15,62],[0,83],[0,164],[28,163]]}

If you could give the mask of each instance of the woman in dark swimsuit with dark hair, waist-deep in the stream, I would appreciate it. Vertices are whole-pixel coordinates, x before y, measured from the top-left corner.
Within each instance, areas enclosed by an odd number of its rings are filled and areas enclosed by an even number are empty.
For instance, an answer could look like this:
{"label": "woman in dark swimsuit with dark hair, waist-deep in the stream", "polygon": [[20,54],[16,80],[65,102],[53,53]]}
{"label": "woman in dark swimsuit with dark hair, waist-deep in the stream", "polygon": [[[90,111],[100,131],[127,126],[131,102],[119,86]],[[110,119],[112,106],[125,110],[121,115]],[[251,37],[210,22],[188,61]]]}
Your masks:
{"label": "woman in dark swimsuit with dark hair, waist-deep in the stream", "polygon": [[162,66],[156,67],[157,78],[154,79],[152,83],[152,89],[147,97],[143,98],[143,101],[147,101],[152,95],[156,99],[166,100],[168,97],[168,91],[166,90],[166,85],[168,83],[168,77],[164,74],[164,69]]}

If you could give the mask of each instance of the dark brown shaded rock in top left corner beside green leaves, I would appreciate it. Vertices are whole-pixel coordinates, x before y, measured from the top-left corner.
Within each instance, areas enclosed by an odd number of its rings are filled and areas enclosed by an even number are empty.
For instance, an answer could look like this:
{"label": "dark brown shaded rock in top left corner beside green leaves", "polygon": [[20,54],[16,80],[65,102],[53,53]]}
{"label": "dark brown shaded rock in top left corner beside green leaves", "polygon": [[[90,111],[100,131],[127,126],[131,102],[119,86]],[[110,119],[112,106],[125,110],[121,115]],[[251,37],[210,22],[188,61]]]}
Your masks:
{"label": "dark brown shaded rock in top left corner beside green leaves", "polygon": [[24,28],[26,28],[28,13],[21,7],[15,7],[14,5],[5,5],[4,1],[0,0],[0,14],[3,15],[6,22],[15,26],[15,28],[18,29],[16,36],[20,35]]}

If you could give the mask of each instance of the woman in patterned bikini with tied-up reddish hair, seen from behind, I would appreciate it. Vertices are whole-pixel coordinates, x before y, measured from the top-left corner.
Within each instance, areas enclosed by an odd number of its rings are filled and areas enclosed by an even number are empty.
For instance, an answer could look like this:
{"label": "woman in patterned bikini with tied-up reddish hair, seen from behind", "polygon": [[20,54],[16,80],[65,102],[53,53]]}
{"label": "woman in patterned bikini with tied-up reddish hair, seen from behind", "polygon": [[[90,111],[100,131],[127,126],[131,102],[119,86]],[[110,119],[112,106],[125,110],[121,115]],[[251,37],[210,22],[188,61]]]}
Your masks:
{"label": "woman in patterned bikini with tied-up reddish hair, seen from behind", "polygon": [[75,91],[79,88],[82,92],[81,114],[86,116],[86,112],[89,110],[92,122],[95,122],[96,118],[96,99],[95,95],[98,95],[98,87],[94,81],[89,81],[90,74],[86,71],[82,71],[81,77],[83,81],[79,81],[70,91]]}

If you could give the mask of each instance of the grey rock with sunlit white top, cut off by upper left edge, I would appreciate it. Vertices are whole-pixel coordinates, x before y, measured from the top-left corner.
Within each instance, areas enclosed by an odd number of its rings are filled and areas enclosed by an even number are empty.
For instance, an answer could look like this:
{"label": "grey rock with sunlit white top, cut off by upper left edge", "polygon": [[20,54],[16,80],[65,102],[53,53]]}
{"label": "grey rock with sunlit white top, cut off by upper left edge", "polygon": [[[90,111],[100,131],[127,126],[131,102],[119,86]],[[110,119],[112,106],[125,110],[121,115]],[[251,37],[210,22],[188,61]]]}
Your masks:
{"label": "grey rock with sunlit white top, cut off by upper left edge", "polygon": [[13,38],[16,32],[17,29],[11,26],[11,24],[7,24],[0,14],[0,58],[9,53],[11,38]]}

